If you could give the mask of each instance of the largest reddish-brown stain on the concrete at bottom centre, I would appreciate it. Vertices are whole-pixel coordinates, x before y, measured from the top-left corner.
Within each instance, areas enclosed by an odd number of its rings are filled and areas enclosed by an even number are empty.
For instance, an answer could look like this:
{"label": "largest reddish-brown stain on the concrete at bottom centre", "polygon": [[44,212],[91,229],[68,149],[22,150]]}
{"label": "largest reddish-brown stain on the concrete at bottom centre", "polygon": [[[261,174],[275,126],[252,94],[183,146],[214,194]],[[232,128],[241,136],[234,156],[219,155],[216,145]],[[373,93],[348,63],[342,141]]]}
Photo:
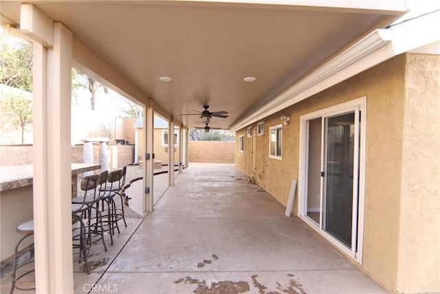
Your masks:
{"label": "largest reddish-brown stain on the concrete at bottom centre", "polygon": [[179,284],[181,282],[185,282],[185,284],[197,284],[197,288],[192,291],[192,293],[196,294],[239,294],[250,291],[249,284],[245,281],[220,281],[213,282],[210,286],[208,286],[205,280],[199,281],[197,279],[192,279],[192,277],[185,277],[185,279],[181,278],[175,281],[175,284]]}

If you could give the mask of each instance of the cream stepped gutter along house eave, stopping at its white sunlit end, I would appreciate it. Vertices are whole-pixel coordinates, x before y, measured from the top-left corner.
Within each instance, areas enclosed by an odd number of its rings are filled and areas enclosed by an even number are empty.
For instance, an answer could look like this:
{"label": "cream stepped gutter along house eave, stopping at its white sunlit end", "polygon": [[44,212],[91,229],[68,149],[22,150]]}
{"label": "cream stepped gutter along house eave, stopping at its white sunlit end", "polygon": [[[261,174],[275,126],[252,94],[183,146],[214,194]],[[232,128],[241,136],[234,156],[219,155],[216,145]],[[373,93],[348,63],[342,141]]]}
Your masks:
{"label": "cream stepped gutter along house eave, stopping at its white sunlit end", "polygon": [[[232,125],[231,129],[241,129],[391,58],[394,56],[391,46],[392,38],[393,34],[388,29],[371,32],[364,39],[351,45],[347,50],[276,96],[257,112],[241,120],[240,123]],[[382,48],[384,50],[380,50]]]}

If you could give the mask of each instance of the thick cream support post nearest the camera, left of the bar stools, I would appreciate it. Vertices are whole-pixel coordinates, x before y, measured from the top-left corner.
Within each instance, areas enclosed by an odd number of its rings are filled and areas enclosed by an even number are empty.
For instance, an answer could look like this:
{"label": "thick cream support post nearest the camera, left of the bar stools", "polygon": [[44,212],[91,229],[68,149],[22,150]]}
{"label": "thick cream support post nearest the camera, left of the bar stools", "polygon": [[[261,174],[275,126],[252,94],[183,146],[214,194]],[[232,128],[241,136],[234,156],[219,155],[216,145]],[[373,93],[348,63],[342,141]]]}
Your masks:
{"label": "thick cream support post nearest the camera, left of the bar stools", "polygon": [[[38,13],[28,15],[34,23],[39,23],[39,17]],[[74,289],[70,144],[72,39],[72,32],[62,23],[53,23],[53,48],[46,49],[34,41],[36,293],[73,293]]]}

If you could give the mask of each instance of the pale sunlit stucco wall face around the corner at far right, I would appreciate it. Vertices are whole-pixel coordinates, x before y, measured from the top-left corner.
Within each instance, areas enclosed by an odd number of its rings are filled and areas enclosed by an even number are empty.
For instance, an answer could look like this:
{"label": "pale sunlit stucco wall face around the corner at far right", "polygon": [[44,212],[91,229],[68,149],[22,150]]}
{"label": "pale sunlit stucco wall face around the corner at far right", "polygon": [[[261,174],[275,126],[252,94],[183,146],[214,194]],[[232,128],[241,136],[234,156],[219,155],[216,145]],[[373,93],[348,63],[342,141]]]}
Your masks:
{"label": "pale sunlit stucco wall face around the corner at far right", "polygon": [[440,56],[408,54],[397,292],[440,291]]}

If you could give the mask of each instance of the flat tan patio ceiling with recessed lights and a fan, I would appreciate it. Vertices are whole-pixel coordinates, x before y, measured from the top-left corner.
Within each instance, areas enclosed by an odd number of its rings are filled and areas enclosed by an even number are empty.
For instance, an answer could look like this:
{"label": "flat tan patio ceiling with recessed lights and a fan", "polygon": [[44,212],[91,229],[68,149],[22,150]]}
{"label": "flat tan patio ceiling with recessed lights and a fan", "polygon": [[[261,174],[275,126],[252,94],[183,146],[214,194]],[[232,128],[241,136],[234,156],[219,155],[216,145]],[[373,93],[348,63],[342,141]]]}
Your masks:
{"label": "flat tan patio ceiling with recessed lights and a fan", "polygon": [[[211,120],[223,128],[405,9],[404,1],[391,0],[241,2],[25,1],[62,22],[142,92],[137,101],[153,98],[162,115],[187,127],[203,123],[181,114],[208,104],[211,112],[229,113]],[[2,23],[19,25],[20,1],[0,5]],[[256,81],[243,81],[248,76]]]}

